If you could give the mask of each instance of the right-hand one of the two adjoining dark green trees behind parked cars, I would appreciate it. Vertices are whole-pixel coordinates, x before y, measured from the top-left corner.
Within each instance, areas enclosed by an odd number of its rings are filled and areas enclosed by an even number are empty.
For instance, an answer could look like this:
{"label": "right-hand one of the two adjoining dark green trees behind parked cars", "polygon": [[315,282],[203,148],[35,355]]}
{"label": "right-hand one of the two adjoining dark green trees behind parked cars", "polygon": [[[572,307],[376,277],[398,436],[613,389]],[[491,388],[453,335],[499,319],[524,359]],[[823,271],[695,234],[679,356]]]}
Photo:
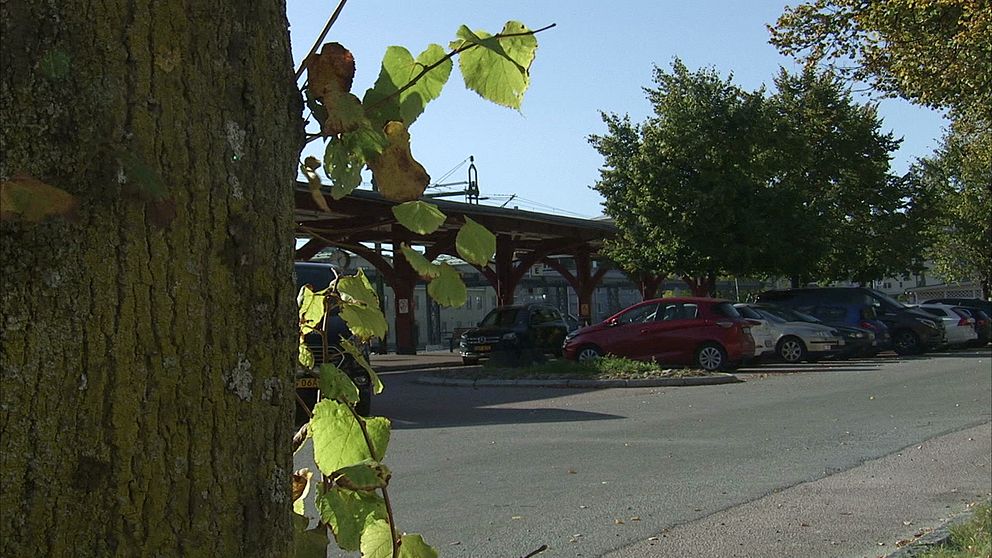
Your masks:
{"label": "right-hand one of the two adjoining dark green trees behind parked cars", "polygon": [[775,86],[774,174],[761,192],[770,267],[796,283],[867,282],[919,267],[919,252],[905,250],[919,236],[905,216],[908,187],[889,172],[899,140],[881,131],[876,108],[811,69],[782,70]]}

